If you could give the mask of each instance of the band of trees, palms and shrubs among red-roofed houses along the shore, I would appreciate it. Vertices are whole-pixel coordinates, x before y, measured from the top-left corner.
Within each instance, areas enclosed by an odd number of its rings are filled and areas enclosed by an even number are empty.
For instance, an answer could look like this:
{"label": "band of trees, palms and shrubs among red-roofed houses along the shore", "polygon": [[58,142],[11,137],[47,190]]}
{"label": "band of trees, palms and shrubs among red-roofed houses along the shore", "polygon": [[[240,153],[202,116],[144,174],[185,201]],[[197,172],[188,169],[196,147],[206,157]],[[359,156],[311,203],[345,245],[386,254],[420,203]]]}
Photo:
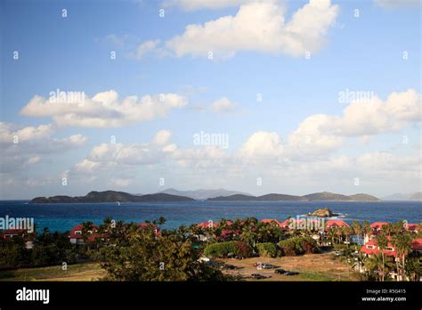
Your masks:
{"label": "band of trees, palms and shrubs among red-roofed houses along the shore", "polygon": [[[372,235],[375,232],[369,222],[323,230],[285,229],[280,223],[254,217],[182,225],[173,230],[162,229],[165,223],[164,217],[143,224],[111,218],[98,226],[85,222],[82,241],[77,244],[69,241],[69,232],[45,228],[31,236],[31,249],[20,237],[1,239],[0,269],[98,262],[107,272],[103,280],[109,281],[233,281],[239,277],[224,273],[218,259],[332,251],[350,272],[359,273],[362,281],[388,281],[391,274],[395,279],[418,281],[422,273],[420,251],[411,246],[421,232],[403,229],[402,222],[385,224],[376,235]],[[353,241],[353,237],[369,236],[379,249],[373,255],[362,253],[361,244]],[[391,247],[395,259],[385,254],[384,249]]]}

